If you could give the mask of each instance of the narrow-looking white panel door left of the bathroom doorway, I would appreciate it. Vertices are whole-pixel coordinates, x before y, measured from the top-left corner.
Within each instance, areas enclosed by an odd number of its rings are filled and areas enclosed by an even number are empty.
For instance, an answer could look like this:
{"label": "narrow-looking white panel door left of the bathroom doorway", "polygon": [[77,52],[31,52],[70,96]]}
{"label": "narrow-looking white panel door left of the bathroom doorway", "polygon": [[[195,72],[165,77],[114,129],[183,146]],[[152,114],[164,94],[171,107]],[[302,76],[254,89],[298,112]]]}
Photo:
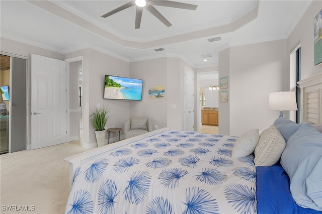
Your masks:
{"label": "narrow-looking white panel door left of the bathroom doorway", "polygon": [[185,125],[186,131],[195,130],[195,73],[188,68],[185,68]]}

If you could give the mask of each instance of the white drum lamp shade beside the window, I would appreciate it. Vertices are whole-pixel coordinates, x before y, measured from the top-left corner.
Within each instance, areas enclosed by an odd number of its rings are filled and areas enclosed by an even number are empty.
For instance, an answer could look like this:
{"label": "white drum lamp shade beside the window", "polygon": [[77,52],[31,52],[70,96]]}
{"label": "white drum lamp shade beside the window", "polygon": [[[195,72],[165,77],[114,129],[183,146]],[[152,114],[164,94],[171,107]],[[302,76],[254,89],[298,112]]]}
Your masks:
{"label": "white drum lamp shade beside the window", "polygon": [[293,91],[272,92],[269,95],[269,110],[297,110],[295,93]]}

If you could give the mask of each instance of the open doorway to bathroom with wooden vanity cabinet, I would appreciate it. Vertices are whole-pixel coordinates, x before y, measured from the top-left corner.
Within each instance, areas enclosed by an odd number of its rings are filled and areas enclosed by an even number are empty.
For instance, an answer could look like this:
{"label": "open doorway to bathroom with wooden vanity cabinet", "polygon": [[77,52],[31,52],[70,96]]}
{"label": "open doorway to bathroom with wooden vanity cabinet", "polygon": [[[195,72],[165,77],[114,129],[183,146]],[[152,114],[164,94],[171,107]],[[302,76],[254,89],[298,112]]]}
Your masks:
{"label": "open doorway to bathroom with wooden vanity cabinet", "polygon": [[198,113],[197,127],[202,133],[218,134],[219,90],[218,71],[197,74]]}

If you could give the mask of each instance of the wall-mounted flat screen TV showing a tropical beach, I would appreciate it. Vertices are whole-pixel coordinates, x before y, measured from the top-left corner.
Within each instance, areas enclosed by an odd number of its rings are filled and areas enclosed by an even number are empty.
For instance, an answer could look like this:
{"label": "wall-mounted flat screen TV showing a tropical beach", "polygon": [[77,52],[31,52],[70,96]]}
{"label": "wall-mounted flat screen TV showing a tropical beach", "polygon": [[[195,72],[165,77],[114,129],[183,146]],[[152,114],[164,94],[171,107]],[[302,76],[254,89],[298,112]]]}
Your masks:
{"label": "wall-mounted flat screen TV showing a tropical beach", "polygon": [[142,100],[143,80],[105,75],[104,99]]}

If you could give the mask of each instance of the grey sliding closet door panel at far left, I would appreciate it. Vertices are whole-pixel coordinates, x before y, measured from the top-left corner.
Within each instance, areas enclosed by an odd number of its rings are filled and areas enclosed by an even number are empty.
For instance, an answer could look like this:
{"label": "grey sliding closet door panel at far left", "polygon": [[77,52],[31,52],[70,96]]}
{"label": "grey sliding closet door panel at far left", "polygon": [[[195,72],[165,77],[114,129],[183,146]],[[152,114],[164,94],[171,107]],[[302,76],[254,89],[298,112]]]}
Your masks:
{"label": "grey sliding closet door panel at far left", "polygon": [[27,60],[12,57],[9,152],[26,149]]}

